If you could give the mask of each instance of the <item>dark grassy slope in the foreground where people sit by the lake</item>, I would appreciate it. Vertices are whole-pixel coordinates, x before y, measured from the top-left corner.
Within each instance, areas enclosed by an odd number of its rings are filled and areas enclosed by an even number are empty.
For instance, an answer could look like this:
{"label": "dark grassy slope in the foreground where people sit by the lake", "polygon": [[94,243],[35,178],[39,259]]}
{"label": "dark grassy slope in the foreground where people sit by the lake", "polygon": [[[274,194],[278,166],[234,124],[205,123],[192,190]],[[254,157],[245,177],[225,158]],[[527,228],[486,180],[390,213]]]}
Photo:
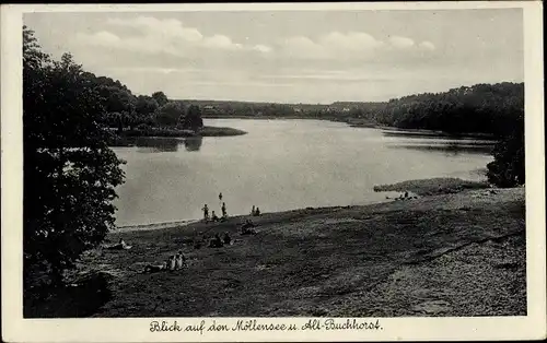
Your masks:
{"label": "dark grassy slope in the foreground where people sit by the lake", "polygon": [[[256,236],[240,221],[110,234],[133,248],[83,259],[115,275],[95,316],[525,315],[524,189],[264,214]],[[226,230],[240,241],[185,245]],[[178,249],[187,270],[141,273]]]}

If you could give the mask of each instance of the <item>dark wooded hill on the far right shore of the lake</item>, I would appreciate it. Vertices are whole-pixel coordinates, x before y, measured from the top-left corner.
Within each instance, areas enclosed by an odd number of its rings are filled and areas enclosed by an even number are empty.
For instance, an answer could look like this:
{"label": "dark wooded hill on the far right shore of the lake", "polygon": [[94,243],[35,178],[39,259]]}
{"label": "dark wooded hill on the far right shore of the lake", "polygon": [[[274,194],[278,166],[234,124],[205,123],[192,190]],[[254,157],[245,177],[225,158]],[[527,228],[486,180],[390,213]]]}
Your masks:
{"label": "dark wooded hill on the far right shore of the lake", "polygon": [[476,84],[392,99],[376,113],[381,125],[451,133],[509,134],[524,111],[524,83]]}

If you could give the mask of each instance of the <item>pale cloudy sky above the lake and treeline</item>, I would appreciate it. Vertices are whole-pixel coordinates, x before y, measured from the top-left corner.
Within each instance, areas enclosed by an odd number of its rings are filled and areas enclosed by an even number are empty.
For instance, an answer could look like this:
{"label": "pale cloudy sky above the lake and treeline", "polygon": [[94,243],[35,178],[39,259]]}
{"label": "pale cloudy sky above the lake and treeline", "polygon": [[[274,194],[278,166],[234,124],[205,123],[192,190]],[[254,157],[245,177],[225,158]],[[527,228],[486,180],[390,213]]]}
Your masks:
{"label": "pale cloudy sky above the lake and treeline", "polygon": [[26,13],[45,52],[71,52],[135,94],[377,102],[524,81],[521,9]]}

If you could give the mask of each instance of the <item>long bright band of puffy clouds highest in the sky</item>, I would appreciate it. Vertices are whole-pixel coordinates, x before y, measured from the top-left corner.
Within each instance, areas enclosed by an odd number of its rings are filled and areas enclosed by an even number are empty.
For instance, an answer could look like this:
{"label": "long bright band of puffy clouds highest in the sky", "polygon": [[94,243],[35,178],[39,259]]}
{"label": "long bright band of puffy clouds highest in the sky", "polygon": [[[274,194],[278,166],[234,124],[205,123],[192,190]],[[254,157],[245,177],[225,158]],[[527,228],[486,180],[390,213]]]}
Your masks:
{"label": "long bright band of puffy clouds highest in the sky", "polygon": [[[389,36],[385,42],[365,32],[333,31],[317,37],[304,35],[286,36],[275,43],[234,42],[228,35],[205,35],[198,28],[184,25],[175,19],[136,16],[113,17],[106,21],[107,28],[95,33],[79,33],[75,42],[91,46],[125,49],[144,54],[170,54],[191,56],[205,54],[203,49],[222,51],[257,52],[274,55],[274,58],[336,59],[370,58],[382,54],[397,54],[411,48],[433,51],[431,42],[416,45],[411,38]],[[116,34],[117,29],[121,29]],[[124,31],[125,29],[125,31]]]}

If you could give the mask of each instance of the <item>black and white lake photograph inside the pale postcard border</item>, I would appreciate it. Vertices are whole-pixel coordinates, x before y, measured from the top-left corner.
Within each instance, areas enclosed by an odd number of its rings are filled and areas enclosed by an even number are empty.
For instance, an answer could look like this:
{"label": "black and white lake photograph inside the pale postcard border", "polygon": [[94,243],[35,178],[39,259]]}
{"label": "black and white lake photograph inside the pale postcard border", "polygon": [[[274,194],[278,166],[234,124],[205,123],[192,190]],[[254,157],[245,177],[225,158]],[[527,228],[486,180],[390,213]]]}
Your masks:
{"label": "black and white lake photograph inside the pale postcard border", "polygon": [[493,4],[24,11],[22,318],[545,321],[543,91]]}

